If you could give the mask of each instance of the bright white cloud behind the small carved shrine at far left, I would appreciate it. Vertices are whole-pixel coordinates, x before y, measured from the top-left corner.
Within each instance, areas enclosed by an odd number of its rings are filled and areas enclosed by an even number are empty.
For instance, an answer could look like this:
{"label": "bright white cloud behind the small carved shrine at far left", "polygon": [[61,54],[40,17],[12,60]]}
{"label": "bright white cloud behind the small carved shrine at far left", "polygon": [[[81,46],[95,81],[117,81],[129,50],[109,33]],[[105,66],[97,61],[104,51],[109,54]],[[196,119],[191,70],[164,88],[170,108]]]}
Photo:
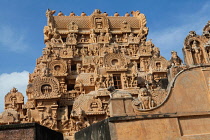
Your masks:
{"label": "bright white cloud behind the small carved shrine at far left", "polygon": [[4,96],[13,88],[17,88],[19,92],[25,97],[26,87],[28,84],[29,72],[13,72],[13,73],[3,73],[0,75],[0,112],[4,111]]}

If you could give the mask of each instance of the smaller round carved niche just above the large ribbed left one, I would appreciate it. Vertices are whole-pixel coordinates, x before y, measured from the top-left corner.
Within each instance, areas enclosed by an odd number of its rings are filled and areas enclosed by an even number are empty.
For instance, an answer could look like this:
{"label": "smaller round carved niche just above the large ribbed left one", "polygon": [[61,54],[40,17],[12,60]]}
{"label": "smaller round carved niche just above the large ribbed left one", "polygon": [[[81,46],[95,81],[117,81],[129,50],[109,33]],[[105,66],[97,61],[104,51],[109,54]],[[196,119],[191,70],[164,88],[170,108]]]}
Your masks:
{"label": "smaller round carved niche just above the large ribbed left one", "polygon": [[53,60],[49,63],[49,68],[54,76],[65,76],[67,64],[64,60]]}

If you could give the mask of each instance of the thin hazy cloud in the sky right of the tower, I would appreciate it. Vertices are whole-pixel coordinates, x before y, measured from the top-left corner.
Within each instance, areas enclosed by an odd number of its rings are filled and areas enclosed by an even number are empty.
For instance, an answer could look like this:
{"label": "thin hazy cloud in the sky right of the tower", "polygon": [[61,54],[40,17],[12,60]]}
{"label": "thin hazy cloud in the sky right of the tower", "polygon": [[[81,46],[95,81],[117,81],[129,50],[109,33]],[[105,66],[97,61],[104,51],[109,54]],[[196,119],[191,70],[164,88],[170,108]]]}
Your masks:
{"label": "thin hazy cloud in the sky right of the tower", "polygon": [[170,59],[171,51],[177,51],[179,56],[183,58],[182,48],[185,37],[189,31],[196,31],[197,34],[202,34],[202,29],[210,20],[209,16],[210,2],[207,2],[203,7],[194,14],[191,15],[176,15],[174,18],[177,19],[179,26],[169,25],[165,29],[150,31],[148,38],[153,40],[153,43],[160,48],[161,55]]}

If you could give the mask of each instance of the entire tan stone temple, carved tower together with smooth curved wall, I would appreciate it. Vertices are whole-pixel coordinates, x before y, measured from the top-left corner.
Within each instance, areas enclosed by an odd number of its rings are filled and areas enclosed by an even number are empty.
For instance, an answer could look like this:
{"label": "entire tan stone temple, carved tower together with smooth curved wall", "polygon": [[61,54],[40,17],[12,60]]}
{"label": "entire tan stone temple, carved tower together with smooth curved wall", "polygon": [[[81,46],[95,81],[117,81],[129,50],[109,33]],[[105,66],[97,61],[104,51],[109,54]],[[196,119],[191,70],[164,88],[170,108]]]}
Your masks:
{"label": "entire tan stone temple, carved tower together with smooth curved wall", "polygon": [[184,40],[184,64],[147,40],[139,11],[55,13],[46,11],[46,47],[29,74],[28,100],[13,88],[1,125],[35,122],[65,139],[210,138],[210,21]]}

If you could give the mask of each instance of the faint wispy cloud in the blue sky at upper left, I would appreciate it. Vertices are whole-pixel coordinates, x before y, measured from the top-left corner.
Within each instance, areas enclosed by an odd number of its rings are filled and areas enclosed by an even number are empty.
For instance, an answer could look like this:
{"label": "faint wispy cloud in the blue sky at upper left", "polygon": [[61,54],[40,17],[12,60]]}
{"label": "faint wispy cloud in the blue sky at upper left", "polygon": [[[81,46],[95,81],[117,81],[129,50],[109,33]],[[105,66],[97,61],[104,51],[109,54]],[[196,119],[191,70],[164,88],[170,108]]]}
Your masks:
{"label": "faint wispy cloud in the blue sky at upper left", "polygon": [[9,25],[0,25],[1,47],[13,52],[23,52],[27,49],[24,31],[15,29]]}

